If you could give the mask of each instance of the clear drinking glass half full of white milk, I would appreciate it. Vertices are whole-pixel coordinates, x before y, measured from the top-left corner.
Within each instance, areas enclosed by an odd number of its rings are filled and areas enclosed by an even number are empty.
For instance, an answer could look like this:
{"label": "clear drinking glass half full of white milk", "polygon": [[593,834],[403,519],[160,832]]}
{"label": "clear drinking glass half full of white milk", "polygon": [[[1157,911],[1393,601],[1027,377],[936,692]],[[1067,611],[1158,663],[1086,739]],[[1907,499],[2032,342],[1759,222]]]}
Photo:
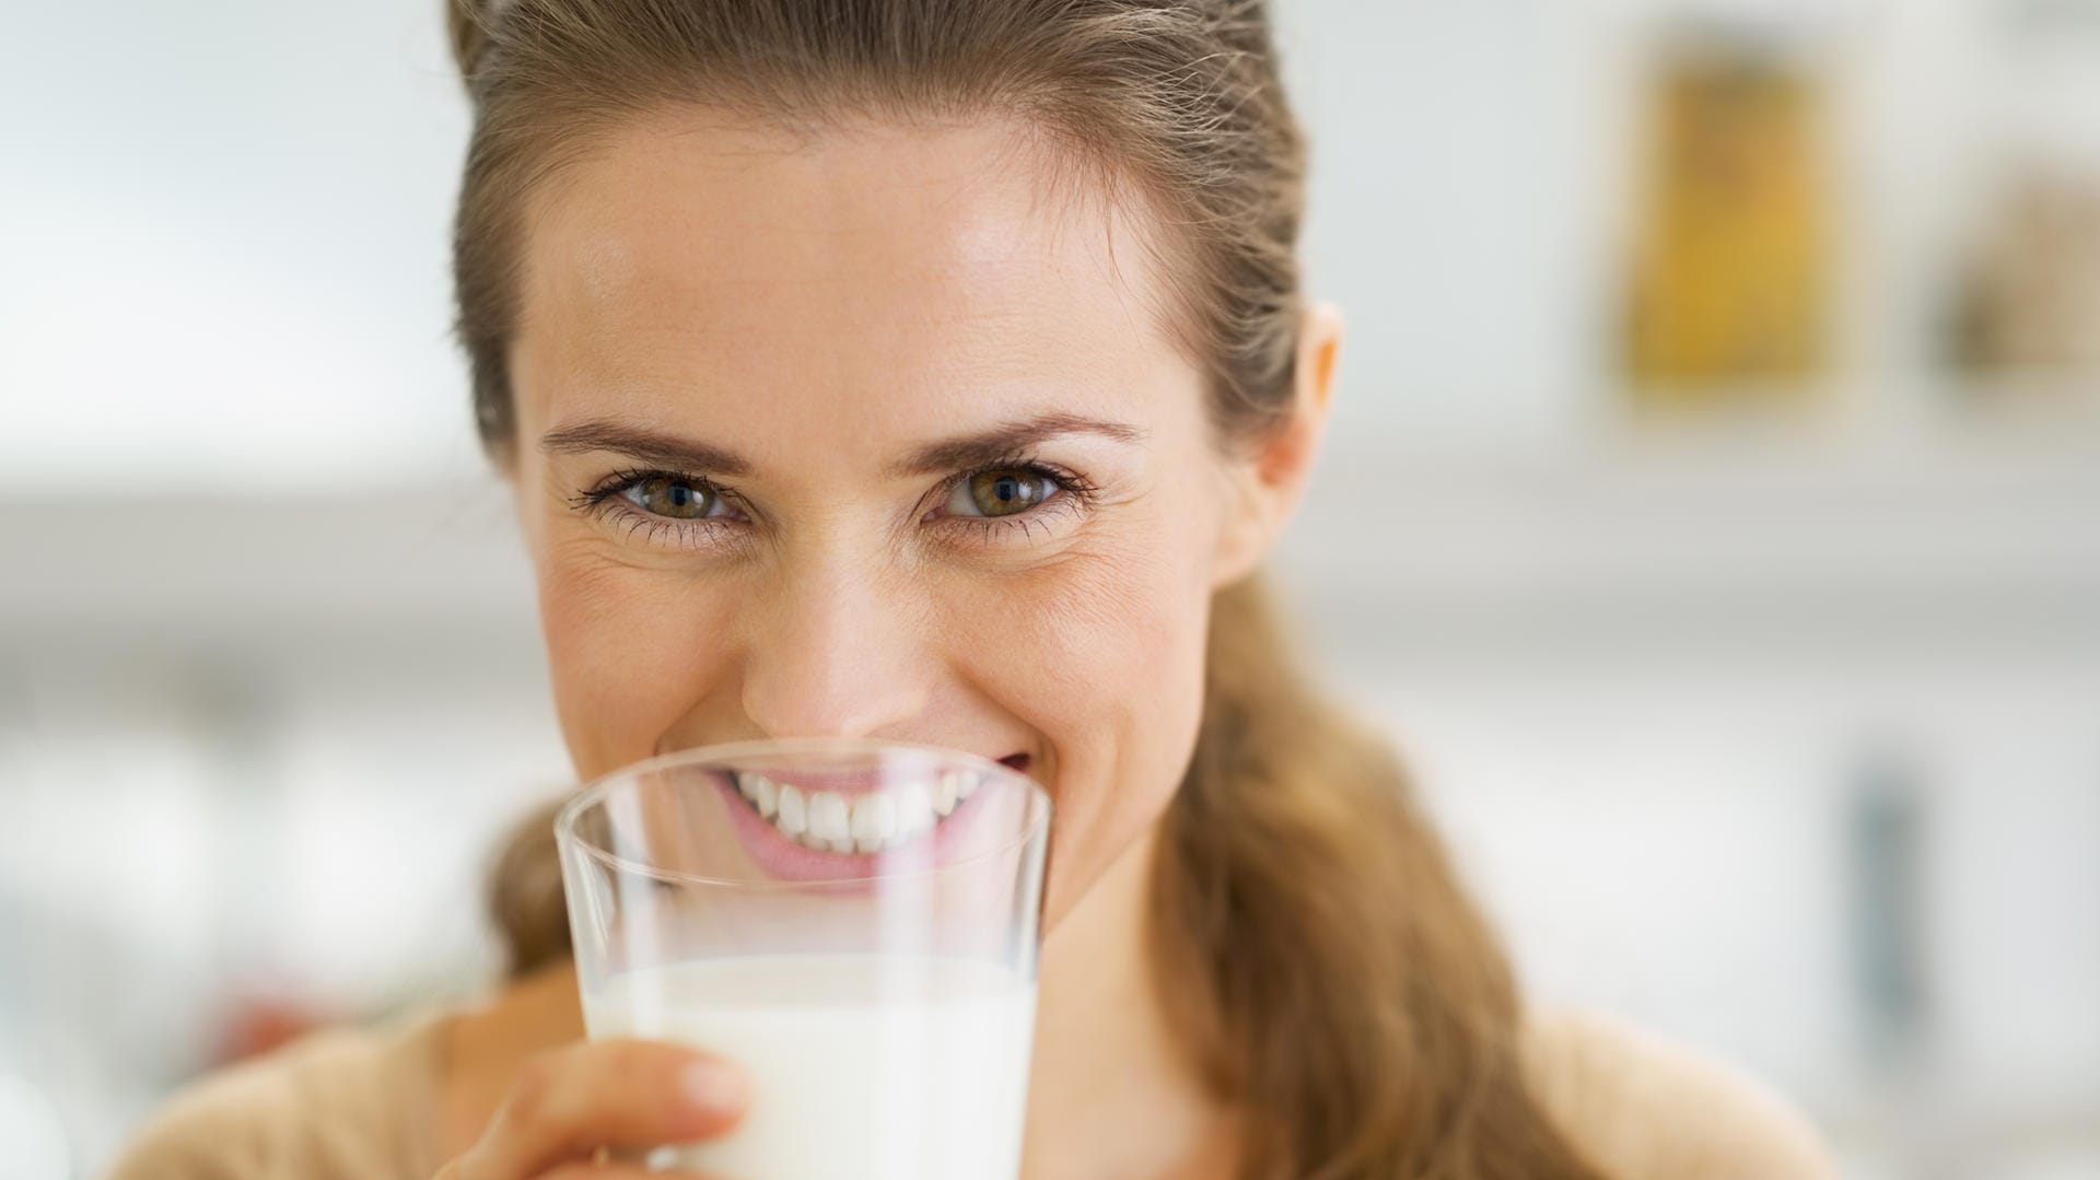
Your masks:
{"label": "clear drinking glass half full of white milk", "polygon": [[691,1044],[752,1077],[737,1130],[649,1165],[1018,1174],[1050,840],[1050,798],[1023,768],[750,741],[628,766],[563,808],[588,1033]]}

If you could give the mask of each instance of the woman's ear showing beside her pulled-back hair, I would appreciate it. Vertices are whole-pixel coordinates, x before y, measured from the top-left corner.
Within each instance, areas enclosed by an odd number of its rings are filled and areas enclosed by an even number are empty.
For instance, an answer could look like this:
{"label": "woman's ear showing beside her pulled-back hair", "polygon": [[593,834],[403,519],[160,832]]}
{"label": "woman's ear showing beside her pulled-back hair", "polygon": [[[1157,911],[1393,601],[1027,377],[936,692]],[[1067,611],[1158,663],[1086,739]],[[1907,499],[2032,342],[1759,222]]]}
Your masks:
{"label": "woman's ear showing beside her pulled-back hair", "polygon": [[1308,307],[1298,319],[1289,412],[1226,460],[1235,496],[1218,538],[1212,586],[1228,586],[1254,573],[1298,512],[1327,430],[1340,349],[1342,311],[1331,302]]}

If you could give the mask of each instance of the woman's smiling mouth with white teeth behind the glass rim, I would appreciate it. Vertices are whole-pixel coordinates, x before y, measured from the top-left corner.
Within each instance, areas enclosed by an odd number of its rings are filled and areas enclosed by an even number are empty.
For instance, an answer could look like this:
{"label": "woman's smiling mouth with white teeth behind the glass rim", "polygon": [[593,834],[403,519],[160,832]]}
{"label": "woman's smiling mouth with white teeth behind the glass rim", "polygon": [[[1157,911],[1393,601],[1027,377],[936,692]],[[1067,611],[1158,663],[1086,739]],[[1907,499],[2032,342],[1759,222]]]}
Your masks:
{"label": "woman's smiling mouth with white teeth behind the glass rim", "polygon": [[[1027,754],[1000,758],[1027,773]],[[872,775],[773,779],[733,775],[737,796],[790,844],[815,852],[882,855],[930,838],[985,783],[974,771],[943,771],[926,779]]]}

